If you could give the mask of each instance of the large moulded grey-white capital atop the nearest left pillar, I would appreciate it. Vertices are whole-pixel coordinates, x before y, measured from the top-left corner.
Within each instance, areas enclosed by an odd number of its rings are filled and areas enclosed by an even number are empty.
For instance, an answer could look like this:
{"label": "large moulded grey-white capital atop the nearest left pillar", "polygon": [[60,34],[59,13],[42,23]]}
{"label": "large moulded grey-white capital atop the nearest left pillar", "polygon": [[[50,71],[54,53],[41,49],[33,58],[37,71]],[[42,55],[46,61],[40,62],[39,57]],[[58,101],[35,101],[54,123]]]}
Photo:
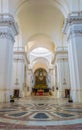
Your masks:
{"label": "large moulded grey-white capital atop the nearest left pillar", "polygon": [[0,38],[11,39],[14,41],[18,34],[18,26],[15,19],[10,14],[0,14]]}

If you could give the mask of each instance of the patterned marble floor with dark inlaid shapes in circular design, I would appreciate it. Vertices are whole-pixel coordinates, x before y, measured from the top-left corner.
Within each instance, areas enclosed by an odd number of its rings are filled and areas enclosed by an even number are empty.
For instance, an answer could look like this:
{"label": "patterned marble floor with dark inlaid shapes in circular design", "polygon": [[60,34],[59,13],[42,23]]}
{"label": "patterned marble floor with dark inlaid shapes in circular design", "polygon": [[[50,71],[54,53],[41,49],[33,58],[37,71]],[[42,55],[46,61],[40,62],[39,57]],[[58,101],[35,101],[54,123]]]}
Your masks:
{"label": "patterned marble floor with dark inlaid shapes in circular design", "polygon": [[82,104],[32,96],[0,104],[1,130],[82,130]]}

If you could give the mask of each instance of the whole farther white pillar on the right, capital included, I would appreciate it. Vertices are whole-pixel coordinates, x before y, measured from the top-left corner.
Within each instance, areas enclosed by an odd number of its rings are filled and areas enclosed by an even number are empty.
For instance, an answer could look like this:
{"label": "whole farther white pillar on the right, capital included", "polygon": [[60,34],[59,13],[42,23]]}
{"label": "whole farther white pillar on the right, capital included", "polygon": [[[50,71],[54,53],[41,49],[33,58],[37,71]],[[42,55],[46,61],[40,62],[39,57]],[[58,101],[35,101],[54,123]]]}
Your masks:
{"label": "whole farther white pillar on the right, capital included", "polygon": [[57,48],[56,50],[56,89],[58,97],[65,97],[65,89],[70,89],[68,51],[67,48]]}

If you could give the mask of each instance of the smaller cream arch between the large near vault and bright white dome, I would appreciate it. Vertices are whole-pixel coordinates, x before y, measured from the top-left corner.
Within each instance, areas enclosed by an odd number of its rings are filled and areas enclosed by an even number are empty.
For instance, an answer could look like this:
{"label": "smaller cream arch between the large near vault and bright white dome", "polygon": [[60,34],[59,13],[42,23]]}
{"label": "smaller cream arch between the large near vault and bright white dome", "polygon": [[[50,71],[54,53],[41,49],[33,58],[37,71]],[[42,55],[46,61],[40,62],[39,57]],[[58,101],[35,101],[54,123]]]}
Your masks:
{"label": "smaller cream arch between the large near vault and bright white dome", "polygon": [[47,48],[51,52],[55,51],[55,43],[46,34],[35,34],[28,39],[27,42],[28,53],[38,47]]}

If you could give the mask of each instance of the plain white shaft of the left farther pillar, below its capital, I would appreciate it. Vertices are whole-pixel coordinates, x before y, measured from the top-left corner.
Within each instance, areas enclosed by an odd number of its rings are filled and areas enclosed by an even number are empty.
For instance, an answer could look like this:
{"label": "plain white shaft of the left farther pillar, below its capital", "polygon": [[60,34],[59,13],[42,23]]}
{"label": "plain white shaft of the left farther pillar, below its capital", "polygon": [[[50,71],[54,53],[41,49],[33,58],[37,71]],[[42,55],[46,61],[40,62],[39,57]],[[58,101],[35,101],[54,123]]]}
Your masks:
{"label": "plain white shaft of the left farther pillar, below its capital", "polygon": [[24,59],[22,56],[14,55],[12,74],[12,93],[19,89],[19,96],[24,97]]}

